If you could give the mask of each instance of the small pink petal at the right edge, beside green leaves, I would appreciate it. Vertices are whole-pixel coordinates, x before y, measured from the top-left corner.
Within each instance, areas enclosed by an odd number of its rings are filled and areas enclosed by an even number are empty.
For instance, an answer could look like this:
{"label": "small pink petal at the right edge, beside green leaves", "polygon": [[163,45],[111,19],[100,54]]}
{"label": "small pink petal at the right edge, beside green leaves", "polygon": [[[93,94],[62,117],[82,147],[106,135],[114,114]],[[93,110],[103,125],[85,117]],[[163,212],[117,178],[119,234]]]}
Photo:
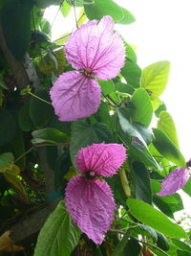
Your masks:
{"label": "small pink petal at the right edge, beside green leaves", "polygon": [[165,197],[176,193],[181,189],[189,178],[189,170],[177,168],[167,175],[161,183],[161,190],[157,193],[160,197]]}

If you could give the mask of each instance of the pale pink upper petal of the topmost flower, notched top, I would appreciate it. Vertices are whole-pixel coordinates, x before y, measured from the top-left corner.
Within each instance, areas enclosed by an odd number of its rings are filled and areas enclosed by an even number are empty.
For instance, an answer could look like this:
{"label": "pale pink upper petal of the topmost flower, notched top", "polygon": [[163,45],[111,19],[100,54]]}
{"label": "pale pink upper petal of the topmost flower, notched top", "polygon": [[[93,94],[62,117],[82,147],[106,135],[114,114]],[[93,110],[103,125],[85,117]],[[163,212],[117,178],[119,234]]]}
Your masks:
{"label": "pale pink upper petal of the topmost flower, notched top", "polygon": [[90,21],[74,32],[65,52],[75,69],[90,68],[99,80],[117,77],[124,65],[125,47],[113,28],[113,19],[104,16],[99,23]]}

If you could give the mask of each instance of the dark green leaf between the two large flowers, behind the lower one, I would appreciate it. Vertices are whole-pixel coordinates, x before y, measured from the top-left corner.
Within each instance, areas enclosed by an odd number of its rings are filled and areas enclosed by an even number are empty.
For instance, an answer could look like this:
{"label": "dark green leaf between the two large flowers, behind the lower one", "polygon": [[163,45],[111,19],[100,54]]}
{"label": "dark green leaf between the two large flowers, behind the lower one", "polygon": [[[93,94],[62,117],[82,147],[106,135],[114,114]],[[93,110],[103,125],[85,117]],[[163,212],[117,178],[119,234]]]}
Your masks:
{"label": "dark green leaf between the two large flowers, behind the lower one", "polygon": [[92,125],[88,119],[77,120],[72,126],[70,145],[71,158],[75,166],[77,151],[94,143],[111,143],[112,132],[102,123]]}

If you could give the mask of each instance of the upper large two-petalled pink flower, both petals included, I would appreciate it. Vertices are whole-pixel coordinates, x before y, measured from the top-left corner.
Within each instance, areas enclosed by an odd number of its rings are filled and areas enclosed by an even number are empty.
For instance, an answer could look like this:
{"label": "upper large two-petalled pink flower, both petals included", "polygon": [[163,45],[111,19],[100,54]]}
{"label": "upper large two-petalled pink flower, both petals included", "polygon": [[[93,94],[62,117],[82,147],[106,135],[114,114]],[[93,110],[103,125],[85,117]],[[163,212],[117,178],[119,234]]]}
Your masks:
{"label": "upper large two-petalled pink flower, both petals included", "polygon": [[82,25],[68,40],[65,53],[76,71],[59,76],[50,91],[60,121],[74,121],[94,114],[100,104],[96,81],[115,78],[124,65],[125,48],[114,21],[104,16],[99,22]]}

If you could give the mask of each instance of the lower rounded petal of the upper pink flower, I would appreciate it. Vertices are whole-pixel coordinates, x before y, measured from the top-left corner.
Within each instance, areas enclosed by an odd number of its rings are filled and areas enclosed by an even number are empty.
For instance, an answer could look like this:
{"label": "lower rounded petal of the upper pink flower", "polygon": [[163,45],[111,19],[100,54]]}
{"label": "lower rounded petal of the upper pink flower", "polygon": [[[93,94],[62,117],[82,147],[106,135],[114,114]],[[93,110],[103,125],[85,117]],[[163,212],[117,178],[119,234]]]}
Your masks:
{"label": "lower rounded petal of the upper pink flower", "polygon": [[63,73],[50,91],[60,121],[74,121],[94,114],[100,104],[100,87],[95,79],[76,71]]}

